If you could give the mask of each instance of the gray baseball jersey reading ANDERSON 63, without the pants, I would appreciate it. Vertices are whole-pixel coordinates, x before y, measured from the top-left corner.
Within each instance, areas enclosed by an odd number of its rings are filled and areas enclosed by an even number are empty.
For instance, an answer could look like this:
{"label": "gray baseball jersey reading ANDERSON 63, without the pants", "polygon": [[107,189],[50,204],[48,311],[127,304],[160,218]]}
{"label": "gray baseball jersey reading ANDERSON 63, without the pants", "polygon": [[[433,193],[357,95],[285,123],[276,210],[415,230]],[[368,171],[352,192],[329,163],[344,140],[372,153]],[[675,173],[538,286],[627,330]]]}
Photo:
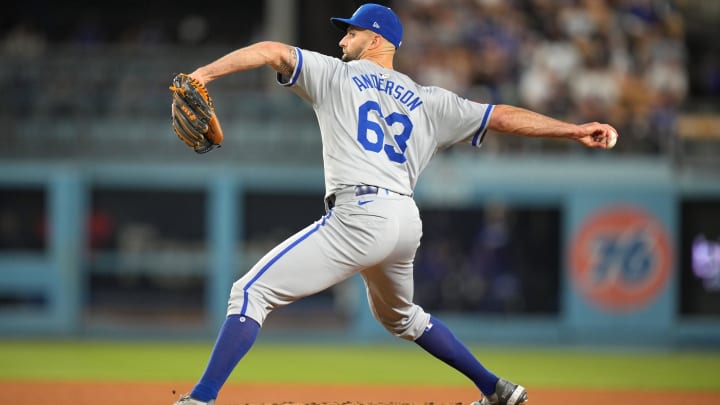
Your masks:
{"label": "gray baseball jersey reading ANDERSON 63, without the pants", "polygon": [[419,86],[368,60],[297,52],[284,85],[315,109],[328,194],[371,184],[411,195],[437,150],[462,141],[480,145],[492,106]]}

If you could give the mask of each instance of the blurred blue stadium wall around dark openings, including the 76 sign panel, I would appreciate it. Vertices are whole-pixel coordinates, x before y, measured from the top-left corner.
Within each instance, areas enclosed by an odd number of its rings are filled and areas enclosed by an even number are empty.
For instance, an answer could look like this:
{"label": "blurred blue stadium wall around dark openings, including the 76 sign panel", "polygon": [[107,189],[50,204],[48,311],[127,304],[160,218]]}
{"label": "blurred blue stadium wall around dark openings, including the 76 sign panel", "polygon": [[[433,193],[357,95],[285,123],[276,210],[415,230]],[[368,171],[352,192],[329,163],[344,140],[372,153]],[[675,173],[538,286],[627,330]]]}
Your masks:
{"label": "blurred blue stadium wall around dark openings, including the 76 sign panel", "polygon": [[[199,322],[88,321],[87,214],[89,196],[97,188],[190,190],[202,196],[204,206],[197,215],[204,218],[206,248],[200,266],[204,294]],[[238,249],[249,220],[244,196],[298,192],[316,195],[320,205],[324,191],[319,167],[0,162],[0,190],[10,191],[4,198],[26,189],[44,196],[47,241],[40,251],[0,251],[0,296],[5,302],[0,305],[0,336],[213,336],[224,319],[232,282],[252,259]],[[680,205],[685,199],[720,204],[720,182],[713,173],[681,171],[662,159],[448,154],[428,167],[415,198],[421,209],[502,201],[560,211],[560,235],[547,235],[558,237],[561,246],[557,313],[440,311],[465,339],[661,347],[720,342],[720,313],[683,313],[680,286],[681,272],[688,271]],[[183,218],[177,222],[182,224]],[[347,291],[352,300],[364,299],[357,277]],[[7,304],[7,297],[23,294],[39,297],[40,304]],[[365,305],[351,305],[349,311],[346,322],[331,331],[307,324],[268,328],[267,335],[386,339],[387,332]]]}

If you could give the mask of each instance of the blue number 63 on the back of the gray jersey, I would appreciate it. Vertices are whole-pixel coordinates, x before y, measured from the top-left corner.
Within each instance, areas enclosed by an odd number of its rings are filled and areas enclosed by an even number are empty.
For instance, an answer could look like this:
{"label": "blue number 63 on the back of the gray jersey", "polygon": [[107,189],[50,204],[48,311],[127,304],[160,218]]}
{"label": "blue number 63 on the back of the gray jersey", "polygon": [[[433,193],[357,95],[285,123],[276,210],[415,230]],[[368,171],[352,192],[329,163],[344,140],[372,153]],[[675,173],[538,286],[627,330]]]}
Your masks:
{"label": "blue number 63 on the back of the gray jersey", "polygon": [[[370,121],[370,111],[375,111],[380,118],[384,119],[388,128],[400,124],[402,131],[398,134],[391,134],[396,145],[385,144],[385,130],[379,123]],[[407,160],[405,150],[412,129],[412,122],[410,122],[407,115],[394,112],[385,117],[380,110],[380,105],[375,101],[366,101],[358,109],[358,142],[365,150],[370,152],[380,153],[380,151],[384,151],[388,159],[393,162],[405,163]],[[375,133],[374,139],[369,136],[371,131]]]}

